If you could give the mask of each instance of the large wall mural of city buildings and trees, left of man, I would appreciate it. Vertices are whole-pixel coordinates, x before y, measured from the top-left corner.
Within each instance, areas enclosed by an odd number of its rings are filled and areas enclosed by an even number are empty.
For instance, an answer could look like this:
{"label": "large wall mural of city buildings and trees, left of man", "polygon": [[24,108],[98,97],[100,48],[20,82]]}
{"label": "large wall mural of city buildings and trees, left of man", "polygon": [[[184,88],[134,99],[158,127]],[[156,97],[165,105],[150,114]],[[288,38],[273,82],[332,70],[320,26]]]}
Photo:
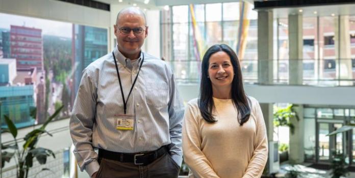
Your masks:
{"label": "large wall mural of city buildings and trees, left of man", "polygon": [[[108,52],[107,28],[0,13],[0,102],[17,128],[70,115],[83,69]],[[36,117],[31,112],[36,109]]]}

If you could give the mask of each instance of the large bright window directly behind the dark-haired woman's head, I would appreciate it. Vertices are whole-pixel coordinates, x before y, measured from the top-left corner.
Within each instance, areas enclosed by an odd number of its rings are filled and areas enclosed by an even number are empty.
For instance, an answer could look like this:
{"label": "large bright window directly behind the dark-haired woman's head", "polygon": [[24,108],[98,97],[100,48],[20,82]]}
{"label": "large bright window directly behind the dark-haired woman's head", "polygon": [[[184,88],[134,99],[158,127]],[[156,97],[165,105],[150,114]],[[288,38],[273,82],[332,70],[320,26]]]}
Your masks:
{"label": "large bright window directly behind the dark-haired woman's head", "polygon": [[237,52],[246,80],[257,80],[257,12],[249,3],[172,6],[161,12],[161,56],[178,82],[197,82],[200,62],[214,44]]}

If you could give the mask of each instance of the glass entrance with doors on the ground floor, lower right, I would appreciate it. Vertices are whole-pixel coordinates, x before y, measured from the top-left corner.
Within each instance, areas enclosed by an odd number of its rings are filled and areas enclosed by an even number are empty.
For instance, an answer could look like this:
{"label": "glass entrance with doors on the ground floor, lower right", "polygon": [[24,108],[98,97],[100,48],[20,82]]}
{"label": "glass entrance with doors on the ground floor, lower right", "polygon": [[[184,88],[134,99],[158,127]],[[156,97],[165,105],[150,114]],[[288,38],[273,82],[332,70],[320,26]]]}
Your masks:
{"label": "glass entrance with doors on the ground floor, lower right", "polygon": [[355,124],[355,108],[349,106],[308,106],[303,110],[305,135],[305,160],[308,162],[330,162],[332,151],[343,153],[345,161],[355,163],[355,129],[336,136],[327,134],[344,125]]}

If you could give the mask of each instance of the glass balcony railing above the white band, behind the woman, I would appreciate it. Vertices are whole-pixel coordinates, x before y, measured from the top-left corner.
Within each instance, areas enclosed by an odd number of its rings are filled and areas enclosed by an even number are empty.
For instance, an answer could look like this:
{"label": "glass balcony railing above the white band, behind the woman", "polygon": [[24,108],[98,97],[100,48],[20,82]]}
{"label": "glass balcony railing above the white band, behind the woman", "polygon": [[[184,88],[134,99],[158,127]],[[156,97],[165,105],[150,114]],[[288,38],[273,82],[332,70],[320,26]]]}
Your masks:
{"label": "glass balcony railing above the white band, behind the woman", "polygon": [[[169,61],[177,83],[199,83],[200,61]],[[300,85],[354,86],[355,59],[240,60],[245,83],[258,83],[258,72],[272,68],[271,84],[289,84],[290,65]],[[259,69],[260,68],[260,69]],[[300,73],[301,72],[301,73]]]}

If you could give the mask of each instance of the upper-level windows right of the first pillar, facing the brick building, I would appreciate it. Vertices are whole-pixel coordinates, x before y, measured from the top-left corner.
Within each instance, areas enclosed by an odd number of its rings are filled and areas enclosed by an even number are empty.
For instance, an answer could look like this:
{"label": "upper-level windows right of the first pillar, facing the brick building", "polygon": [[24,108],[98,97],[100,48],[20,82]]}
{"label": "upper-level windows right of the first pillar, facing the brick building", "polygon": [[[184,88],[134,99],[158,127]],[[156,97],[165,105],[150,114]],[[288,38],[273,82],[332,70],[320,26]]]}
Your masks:
{"label": "upper-level windows right of the first pillar, facing the brick building", "polygon": [[[276,18],[275,83],[289,80],[288,18]],[[355,84],[355,17],[302,17],[303,84]]]}

